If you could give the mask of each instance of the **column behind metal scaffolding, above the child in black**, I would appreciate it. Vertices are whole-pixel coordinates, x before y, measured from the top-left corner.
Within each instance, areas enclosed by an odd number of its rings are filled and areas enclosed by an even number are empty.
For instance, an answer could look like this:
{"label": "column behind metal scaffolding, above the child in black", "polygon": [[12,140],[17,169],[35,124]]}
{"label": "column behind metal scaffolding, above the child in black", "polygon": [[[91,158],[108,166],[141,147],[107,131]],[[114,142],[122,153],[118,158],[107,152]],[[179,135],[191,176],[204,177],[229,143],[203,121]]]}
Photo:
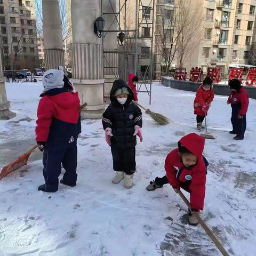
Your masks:
{"label": "column behind metal scaffolding, above the child in black", "polygon": [[[103,1],[102,13],[113,13],[103,15],[105,19],[105,30],[118,30],[118,22],[114,12],[119,11],[117,0]],[[111,3],[111,5],[110,5]],[[113,9],[114,11],[113,11]],[[118,19],[118,17],[117,17]],[[113,22],[114,21],[114,22]],[[104,101],[109,103],[109,93],[113,82],[118,78],[119,54],[117,51],[117,35],[119,33],[106,33],[103,37],[103,65],[104,65]],[[109,51],[109,53],[107,53]],[[109,68],[108,68],[109,67]]]}

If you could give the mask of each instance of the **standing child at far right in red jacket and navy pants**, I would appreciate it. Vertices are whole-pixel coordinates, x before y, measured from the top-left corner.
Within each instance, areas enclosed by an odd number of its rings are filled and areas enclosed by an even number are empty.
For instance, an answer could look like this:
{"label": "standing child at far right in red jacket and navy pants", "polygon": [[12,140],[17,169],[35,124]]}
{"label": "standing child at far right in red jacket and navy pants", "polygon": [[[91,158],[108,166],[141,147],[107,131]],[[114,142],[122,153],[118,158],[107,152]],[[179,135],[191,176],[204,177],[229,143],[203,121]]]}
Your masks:
{"label": "standing child at far right in red jacket and navy pants", "polygon": [[234,140],[243,140],[246,130],[246,113],[249,106],[249,97],[238,79],[232,79],[228,85],[231,92],[227,103],[231,104],[231,123],[233,125],[233,130],[229,133],[236,134],[233,138]]}

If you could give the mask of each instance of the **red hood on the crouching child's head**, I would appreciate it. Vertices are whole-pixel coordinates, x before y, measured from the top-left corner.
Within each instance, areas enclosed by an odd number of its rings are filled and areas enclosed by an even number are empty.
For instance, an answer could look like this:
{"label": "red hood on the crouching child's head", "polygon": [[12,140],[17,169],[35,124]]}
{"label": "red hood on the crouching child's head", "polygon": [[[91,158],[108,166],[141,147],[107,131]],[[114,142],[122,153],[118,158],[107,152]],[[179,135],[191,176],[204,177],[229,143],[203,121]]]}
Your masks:
{"label": "red hood on the crouching child's head", "polygon": [[196,157],[202,156],[205,142],[203,137],[196,133],[189,133],[182,137],[179,142]]}

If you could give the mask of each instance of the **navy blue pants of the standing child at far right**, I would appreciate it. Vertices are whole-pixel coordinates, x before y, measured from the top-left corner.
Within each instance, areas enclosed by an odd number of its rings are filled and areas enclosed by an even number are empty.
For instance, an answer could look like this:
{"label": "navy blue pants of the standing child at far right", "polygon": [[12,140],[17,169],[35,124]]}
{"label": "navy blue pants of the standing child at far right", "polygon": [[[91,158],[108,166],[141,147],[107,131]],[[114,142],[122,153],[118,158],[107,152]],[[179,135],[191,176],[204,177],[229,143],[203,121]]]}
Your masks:
{"label": "navy blue pants of the standing child at far right", "polygon": [[237,134],[237,137],[244,138],[244,133],[246,130],[246,115],[239,119],[239,104],[231,104],[232,114],[231,123],[233,125],[233,131]]}

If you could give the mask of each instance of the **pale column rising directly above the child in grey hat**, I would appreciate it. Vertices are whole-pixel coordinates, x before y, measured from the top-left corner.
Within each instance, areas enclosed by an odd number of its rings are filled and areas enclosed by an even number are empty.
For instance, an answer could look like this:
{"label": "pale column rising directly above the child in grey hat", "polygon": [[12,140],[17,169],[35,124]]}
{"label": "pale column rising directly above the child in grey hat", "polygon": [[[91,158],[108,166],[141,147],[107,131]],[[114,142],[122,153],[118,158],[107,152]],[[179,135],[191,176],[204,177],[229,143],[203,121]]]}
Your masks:
{"label": "pale column rising directly above the child in grey hat", "polygon": [[46,69],[57,69],[65,66],[58,0],[42,0],[44,58]]}

